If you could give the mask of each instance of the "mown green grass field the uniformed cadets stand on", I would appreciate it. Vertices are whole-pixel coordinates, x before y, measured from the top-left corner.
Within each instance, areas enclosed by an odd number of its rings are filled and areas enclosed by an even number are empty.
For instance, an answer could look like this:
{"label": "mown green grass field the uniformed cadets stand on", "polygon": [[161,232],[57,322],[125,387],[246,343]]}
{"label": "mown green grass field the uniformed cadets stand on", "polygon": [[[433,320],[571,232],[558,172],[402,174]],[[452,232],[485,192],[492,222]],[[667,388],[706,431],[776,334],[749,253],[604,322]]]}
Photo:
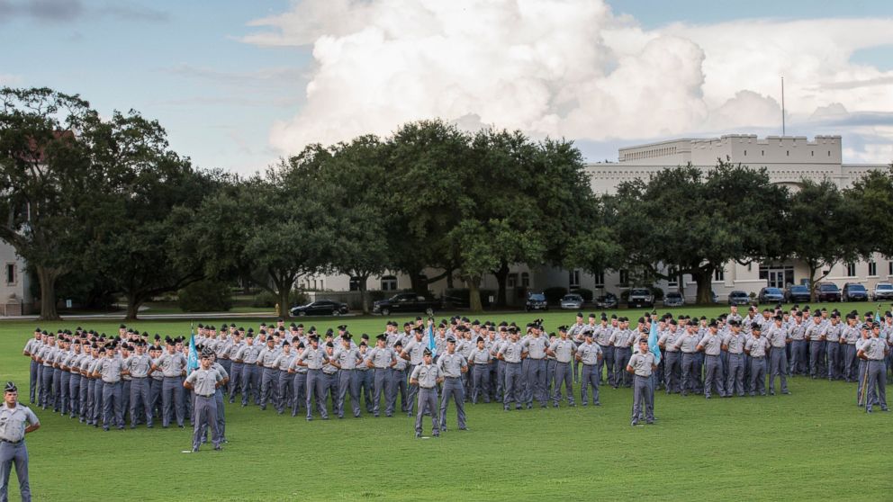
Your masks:
{"label": "mown green grass field the uniformed cadets stand on", "polygon": [[[678,312],[709,317],[725,309]],[[573,312],[480,318],[539,317],[547,328],[573,322]],[[235,322],[256,327],[260,320]],[[383,326],[383,318],[302,322],[323,329],[347,322],[355,335]],[[21,354],[34,324],[0,323],[0,381],[16,381],[25,399]],[[78,325],[111,333],[118,321],[40,323]],[[189,322],[134,326],[181,335]],[[451,407],[450,431],[428,440],[415,439],[412,419],[400,414],[308,423],[228,405],[230,444],[222,453],[191,454],[181,453],[190,447],[188,428],[103,432],[38,408],[42,427],[28,436],[32,492],[35,500],[59,501],[893,500],[893,416],[856,408],[853,384],[798,377],[789,387],[790,396],[746,399],[658,393],[657,425],[644,427],[629,426],[630,390],[608,386],[600,408],[506,413],[497,404],[467,405],[467,432],[455,430]],[[18,500],[14,478],[10,493]]]}

